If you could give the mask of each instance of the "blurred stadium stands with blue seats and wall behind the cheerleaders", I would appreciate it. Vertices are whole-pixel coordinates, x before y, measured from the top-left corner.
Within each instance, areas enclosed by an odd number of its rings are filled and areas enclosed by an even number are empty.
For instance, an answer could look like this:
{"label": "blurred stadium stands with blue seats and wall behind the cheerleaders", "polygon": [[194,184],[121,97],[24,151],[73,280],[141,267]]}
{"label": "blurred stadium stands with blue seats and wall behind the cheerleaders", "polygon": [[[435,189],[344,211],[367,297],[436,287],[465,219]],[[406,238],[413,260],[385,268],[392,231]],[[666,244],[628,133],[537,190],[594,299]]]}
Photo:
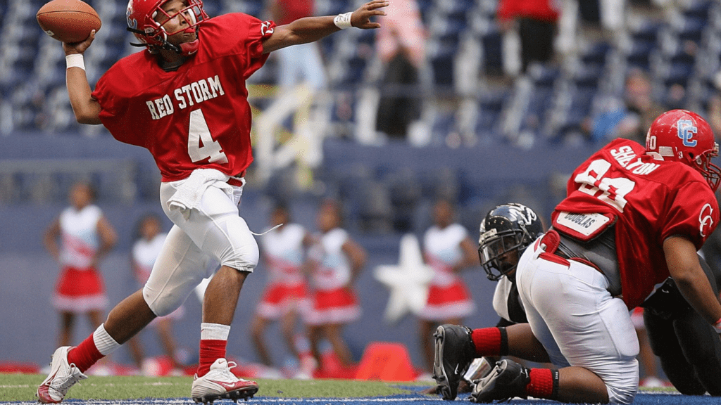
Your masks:
{"label": "blurred stadium stands with blue seats and wall behind the cheerleaders", "polygon": [[[45,362],[38,356],[55,347],[60,325],[50,295],[58,267],[42,235],[72,184],[92,184],[117,230],[101,265],[112,303],[136,288],[128,270],[134,224],[161,213],[149,154],[100,125],[75,122],[61,45],[35,21],[43,3],[0,0],[0,311],[9,326],[0,332],[0,361]],[[103,23],[85,55],[93,84],[138,48],[129,45],[125,1],[88,3]],[[205,0],[204,8],[283,24],[359,4]],[[241,213],[260,232],[282,202],[312,230],[322,200],[340,203],[343,228],[368,252],[357,324],[378,326],[347,329],[356,360],[371,340],[390,340],[423,363],[407,333],[415,324],[381,320],[388,292],[368,269],[397,263],[400,237],[433,225],[435,201],[451,203],[454,221],[475,240],[499,203],[523,203],[547,218],[577,164],[617,137],[644,143],[664,110],[698,112],[721,134],[720,1],[392,0],[387,13],[379,30],[345,30],[273,53],[249,83],[256,161]],[[257,273],[242,293],[248,314],[236,316],[246,327],[234,328],[235,354],[249,360],[262,264]],[[479,308],[468,323],[495,323],[494,285],[479,273],[463,275]],[[199,304],[186,310],[191,330],[177,339],[195,347]],[[21,339],[27,344],[19,347]]]}

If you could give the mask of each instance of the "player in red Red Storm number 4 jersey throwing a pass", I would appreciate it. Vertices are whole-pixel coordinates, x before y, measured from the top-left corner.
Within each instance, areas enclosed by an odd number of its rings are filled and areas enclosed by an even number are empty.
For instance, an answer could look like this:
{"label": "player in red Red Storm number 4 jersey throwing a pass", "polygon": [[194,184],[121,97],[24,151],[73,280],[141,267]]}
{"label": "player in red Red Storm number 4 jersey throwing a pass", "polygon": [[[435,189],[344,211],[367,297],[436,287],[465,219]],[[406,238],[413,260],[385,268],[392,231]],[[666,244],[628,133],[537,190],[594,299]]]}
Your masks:
{"label": "player in red Red Storm number 4 jersey throwing a pass", "polygon": [[221,268],[205,291],[191,396],[205,403],[257,392],[255,382],[231,373],[234,363],[225,358],[241,287],[258,261],[255,239],[238,212],[252,161],[245,80],[273,50],[343,28],[379,27],[371,18],[384,15],[387,4],[373,0],[355,12],[278,27],[240,13],[209,18],[202,0],[130,0],[128,30],[146,50],[115,63],[94,91],[82,58],[94,32],[81,43],[63,44],[76,119],[102,123],[118,141],[151,152],[162,174],[163,210],[174,226],[145,287],[115,306],[78,347],[56,350],[50,375],[37,389],[41,402],[62,401],[94,362],[180,306],[209,276],[210,258]]}

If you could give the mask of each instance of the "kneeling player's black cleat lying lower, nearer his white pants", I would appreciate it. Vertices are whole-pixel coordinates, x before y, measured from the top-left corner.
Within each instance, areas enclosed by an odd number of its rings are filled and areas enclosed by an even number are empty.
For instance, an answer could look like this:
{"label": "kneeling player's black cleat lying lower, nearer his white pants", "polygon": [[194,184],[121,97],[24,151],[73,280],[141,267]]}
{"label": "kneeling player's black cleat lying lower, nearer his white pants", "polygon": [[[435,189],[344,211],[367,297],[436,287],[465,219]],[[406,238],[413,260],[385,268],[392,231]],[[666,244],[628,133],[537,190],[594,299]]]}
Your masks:
{"label": "kneeling player's black cleat lying lower, nearer his white pants", "polygon": [[526,386],[531,378],[528,369],[511,360],[501,360],[489,375],[476,381],[470,400],[488,403],[521,397],[526,398]]}

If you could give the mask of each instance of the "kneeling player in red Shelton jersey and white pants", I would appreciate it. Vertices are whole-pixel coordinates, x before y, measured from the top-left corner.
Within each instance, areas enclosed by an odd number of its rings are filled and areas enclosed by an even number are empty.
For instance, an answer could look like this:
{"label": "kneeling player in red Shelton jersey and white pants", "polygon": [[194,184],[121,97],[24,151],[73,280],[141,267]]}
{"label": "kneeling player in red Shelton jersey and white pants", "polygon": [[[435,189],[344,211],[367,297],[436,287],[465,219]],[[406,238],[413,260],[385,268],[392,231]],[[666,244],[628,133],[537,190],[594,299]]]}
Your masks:
{"label": "kneeling player in red Shelton jersey and white pants", "polygon": [[[639,352],[629,316],[671,276],[686,301],[721,332],[721,303],[696,251],[717,226],[718,145],[694,112],[672,110],[651,125],[645,148],[618,139],[571,175],[552,229],[526,249],[516,285],[528,324],[453,334],[441,357],[513,355],[557,369],[497,362],[472,401],[533,396],[569,403],[630,404]],[[458,380],[454,368],[443,371]],[[435,365],[434,365],[435,367]],[[443,381],[439,381],[443,385]],[[453,392],[450,387],[442,391]]]}

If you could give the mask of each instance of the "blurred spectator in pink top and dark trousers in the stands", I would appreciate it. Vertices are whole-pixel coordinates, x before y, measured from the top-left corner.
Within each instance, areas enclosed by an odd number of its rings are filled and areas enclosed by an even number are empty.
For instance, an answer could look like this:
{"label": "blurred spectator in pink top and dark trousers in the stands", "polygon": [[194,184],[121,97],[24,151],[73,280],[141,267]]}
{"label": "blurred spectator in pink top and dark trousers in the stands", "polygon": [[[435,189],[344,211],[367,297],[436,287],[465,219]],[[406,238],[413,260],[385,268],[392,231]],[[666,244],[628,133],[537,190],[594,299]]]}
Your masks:
{"label": "blurred spectator in pink top and dark trousers in the stands", "polygon": [[[384,66],[376,129],[405,137],[408,125],[420,118],[421,69],[425,64],[425,27],[416,0],[394,0],[379,18],[376,48]],[[384,92],[385,90],[385,92]]]}

